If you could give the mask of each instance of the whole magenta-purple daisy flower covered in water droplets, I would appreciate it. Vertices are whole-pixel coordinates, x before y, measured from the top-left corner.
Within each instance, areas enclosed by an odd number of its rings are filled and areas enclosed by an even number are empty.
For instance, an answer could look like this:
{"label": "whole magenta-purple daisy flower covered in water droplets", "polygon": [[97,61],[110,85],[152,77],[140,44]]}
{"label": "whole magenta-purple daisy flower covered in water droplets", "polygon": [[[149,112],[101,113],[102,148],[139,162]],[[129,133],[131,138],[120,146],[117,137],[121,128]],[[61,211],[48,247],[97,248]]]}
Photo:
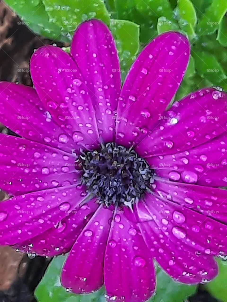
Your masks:
{"label": "whole magenta-purple daisy flower covered in water droplets", "polygon": [[35,88],[1,82],[0,243],[39,255],[69,252],[62,284],[111,301],[155,291],[153,258],[175,280],[217,274],[227,250],[226,105],[221,88],[165,111],[189,60],[168,32],[138,56],[121,89],[113,37],[81,24],[71,54],[41,47]]}

